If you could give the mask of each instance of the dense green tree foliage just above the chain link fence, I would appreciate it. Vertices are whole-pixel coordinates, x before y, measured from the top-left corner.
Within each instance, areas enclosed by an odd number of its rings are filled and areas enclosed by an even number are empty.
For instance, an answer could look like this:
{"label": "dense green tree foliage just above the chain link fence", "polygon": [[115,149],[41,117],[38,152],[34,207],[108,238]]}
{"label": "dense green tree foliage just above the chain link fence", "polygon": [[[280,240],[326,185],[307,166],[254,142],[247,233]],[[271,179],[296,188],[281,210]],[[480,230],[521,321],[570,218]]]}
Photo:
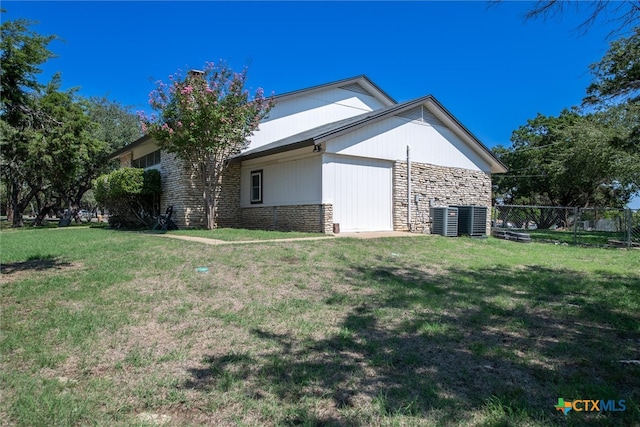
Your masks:
{"label": "dense green tree foliage just above the chain link fence", "polygon": [[640,157],[624,146],[638,110],[612,107],[558,117],[538,115],[494,153],[509,173],[494,177],[494,197],[507,204],[622,207],[639,190]]}

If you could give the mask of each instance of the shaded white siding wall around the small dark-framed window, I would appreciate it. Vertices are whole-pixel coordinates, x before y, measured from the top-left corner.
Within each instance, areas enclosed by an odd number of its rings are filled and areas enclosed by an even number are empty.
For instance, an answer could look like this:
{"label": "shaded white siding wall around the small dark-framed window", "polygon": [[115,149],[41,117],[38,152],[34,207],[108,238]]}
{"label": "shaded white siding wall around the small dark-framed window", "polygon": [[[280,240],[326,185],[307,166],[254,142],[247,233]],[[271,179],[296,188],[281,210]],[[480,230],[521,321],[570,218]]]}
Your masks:
{"label": "shaded white siding wall around the small dark-framed window", "polygon": [[[296,150],[242,163],[240,206],[285,206],[320,204],[322,200],[322,159],[311,148]],[[296,156],[297,154],[297,156]],[[251,204],[251,172],[262,170],[262,203]]]}

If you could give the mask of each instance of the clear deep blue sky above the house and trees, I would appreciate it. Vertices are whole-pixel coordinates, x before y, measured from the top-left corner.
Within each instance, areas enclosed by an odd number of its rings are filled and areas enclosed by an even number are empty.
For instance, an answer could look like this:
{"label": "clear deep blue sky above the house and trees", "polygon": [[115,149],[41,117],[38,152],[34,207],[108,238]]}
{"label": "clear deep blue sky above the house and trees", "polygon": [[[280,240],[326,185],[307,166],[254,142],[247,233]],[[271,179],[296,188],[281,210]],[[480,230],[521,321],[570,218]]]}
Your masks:
{"label": "clear deep blue sky above the house and trees", "polygon": [[58,55],[43,80],[146,109],[153,81],[223,59],[276,94],[366,74],[406,101],[432,94],[487,146],[538,113],[578,105],[613,25],[584,13],[524,21],[531,2],[3,1]]}

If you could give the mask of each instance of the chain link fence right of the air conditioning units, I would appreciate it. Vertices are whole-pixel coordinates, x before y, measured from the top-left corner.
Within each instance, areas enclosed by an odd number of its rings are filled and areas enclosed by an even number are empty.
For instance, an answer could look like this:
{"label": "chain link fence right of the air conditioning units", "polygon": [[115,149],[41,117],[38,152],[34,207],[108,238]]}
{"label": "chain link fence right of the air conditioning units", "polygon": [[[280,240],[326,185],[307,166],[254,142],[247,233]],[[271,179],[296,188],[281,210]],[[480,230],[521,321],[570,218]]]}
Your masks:
{"label": "chain link fence right of the air conditioning units", "polygon": [[640,209],[498,205],[491,227],[538,242],[640,248]]}

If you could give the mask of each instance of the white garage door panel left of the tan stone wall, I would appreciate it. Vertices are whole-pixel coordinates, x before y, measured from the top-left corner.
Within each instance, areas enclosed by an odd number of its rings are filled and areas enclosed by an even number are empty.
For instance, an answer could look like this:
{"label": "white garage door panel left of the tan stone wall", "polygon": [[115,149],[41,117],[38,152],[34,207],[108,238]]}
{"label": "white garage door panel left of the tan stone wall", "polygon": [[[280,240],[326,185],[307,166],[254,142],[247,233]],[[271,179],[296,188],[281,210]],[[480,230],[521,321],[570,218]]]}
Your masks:
{"label": "white garage door panel left of the tan stone wall", "polygon": [[332,157],[325,183],[333,190],[333,222],[340,231],[392,230],[392,163]]}

